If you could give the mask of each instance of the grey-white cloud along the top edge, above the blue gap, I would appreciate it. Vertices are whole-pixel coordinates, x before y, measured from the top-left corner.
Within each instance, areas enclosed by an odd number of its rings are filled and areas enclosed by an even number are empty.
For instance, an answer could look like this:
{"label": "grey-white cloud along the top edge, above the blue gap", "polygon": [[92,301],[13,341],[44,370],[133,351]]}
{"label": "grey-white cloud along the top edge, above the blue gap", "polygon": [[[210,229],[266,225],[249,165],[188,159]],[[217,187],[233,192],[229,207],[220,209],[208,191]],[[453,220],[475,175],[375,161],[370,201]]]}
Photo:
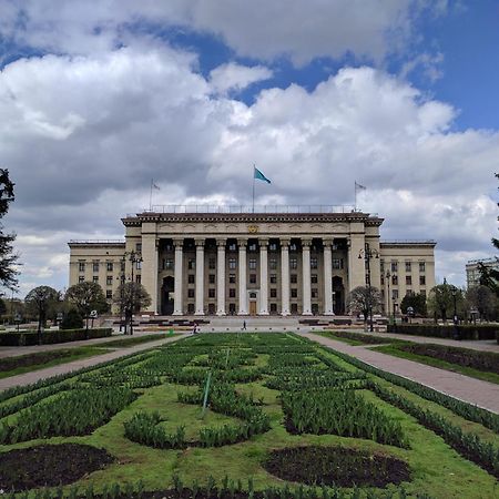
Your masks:
{"label": "grey-white cloud along the top edge, above the blue gap", "polygon": [[141,24],[181,26],[240,55],[297,64],[345,53],[380,60],[406,44],[421,10],[446,10],[420,0],[4,0],[1,9],[0,34],[57,53],[105,52],[147,32]]}

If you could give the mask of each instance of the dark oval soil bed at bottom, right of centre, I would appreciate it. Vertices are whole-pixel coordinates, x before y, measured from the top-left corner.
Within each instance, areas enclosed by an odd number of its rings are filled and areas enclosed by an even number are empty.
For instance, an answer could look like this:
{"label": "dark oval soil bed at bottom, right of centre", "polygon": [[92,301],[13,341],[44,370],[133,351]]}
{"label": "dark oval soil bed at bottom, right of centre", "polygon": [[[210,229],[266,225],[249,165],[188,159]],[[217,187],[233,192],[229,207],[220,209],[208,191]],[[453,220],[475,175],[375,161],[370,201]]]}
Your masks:
{"label": "dark oval soil bed at bottom, right of centre", "polygon": [[385,487],[410,480],[405,461],[345,447],[289,447],[274,450],[263,467],[283,480],[337,487]]}

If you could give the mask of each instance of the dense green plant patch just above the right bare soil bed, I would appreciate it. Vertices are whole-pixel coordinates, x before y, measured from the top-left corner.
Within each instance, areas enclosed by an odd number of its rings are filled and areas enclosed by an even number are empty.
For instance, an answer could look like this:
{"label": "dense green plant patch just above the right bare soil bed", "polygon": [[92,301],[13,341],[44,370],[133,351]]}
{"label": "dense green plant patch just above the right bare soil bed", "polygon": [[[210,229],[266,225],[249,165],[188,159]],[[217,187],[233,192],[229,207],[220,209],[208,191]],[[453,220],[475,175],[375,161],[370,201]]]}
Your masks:
{"label": "dense green plant patch just above the right bare soil bed", "polygon": [[352,390],[284,391],[282,404],[292,432],[367,438],[409,448],[400,424]]}

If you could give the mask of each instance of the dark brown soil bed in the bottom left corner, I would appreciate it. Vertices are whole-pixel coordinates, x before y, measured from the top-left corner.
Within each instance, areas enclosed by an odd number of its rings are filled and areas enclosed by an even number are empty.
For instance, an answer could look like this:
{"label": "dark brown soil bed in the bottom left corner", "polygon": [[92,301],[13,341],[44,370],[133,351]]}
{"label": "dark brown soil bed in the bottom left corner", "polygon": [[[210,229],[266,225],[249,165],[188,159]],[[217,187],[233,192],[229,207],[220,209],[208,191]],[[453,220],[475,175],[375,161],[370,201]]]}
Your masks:
{"label": "dark brown soil bed in the bottom left corner", "polygon": [[0,454],[0,489],[20,491],[72,483],[114,458],[103,449],[61,444]]}

